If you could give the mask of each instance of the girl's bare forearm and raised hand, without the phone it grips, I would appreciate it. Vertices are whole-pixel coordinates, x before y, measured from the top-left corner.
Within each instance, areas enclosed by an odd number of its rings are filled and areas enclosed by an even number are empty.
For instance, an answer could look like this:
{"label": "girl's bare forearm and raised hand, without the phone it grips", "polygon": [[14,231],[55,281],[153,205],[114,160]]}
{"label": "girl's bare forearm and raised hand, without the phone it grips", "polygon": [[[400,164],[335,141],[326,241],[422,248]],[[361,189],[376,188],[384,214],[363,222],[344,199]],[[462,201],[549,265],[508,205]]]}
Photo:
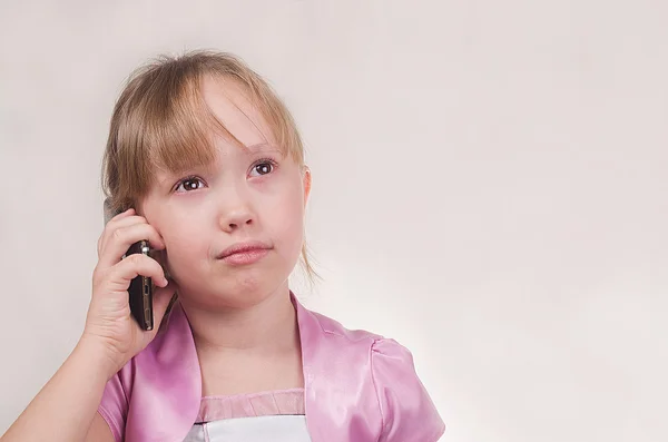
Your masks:
{"label": "girl's bare forearm and raised hand, without the phone it grips", "polygon": [[[0,442],[114,441],[107,422],[97,413],[105,387],[156,336],[174,294],[173,284],[155,259],[140,254],[122,258],[130,245],[144,238],[156,249],[165,247],[157,230],[132,209],[107,224],[98,240],[99,262],[92,274],[84,334]],[[150,332],[141,331],[130,315],[128,287],[138,275],[151,277],[157,285],[156,326]],[[116,429],[119,439],[121,430]]]}

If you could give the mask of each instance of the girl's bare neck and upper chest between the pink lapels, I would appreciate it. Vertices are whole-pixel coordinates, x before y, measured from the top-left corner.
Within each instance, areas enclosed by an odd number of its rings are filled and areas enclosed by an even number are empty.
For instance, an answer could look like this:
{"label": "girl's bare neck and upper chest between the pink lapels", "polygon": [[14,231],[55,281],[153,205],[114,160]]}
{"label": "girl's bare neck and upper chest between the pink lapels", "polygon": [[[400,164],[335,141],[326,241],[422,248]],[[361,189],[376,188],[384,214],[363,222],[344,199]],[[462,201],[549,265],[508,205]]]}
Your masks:
{"label": "girl's bare neck and upper chest between the pink lapels", "polygon": [[276,353],[299,345],[296,312],[287,286],[244,308],[214,311],[181,304],[199,353]]}

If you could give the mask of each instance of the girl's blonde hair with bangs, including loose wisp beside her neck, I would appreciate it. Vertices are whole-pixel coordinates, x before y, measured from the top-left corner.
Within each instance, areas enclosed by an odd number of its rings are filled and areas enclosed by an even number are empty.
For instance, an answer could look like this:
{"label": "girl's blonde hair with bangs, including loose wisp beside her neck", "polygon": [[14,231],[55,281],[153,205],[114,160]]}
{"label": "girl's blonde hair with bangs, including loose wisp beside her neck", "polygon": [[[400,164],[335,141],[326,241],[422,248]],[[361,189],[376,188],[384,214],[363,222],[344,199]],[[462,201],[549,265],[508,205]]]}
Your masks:
{"label": "girl's blonde hair with bangs, including loose wisp beside her neck", "polygon": [[[207,76],[240,85],[283,154],[304,166],[304,146],[291,112],[243,60],[217,51],[160,56],[130,76],[114,108],[102,160],[102,189],[114,212],[134,207],[148,193],[156,166],[179,173],[210,164],[216,155],[213,132],[243,146],[206,106],[202,81]],[[305,243],[302,265],[313,283],[317,273]]]}

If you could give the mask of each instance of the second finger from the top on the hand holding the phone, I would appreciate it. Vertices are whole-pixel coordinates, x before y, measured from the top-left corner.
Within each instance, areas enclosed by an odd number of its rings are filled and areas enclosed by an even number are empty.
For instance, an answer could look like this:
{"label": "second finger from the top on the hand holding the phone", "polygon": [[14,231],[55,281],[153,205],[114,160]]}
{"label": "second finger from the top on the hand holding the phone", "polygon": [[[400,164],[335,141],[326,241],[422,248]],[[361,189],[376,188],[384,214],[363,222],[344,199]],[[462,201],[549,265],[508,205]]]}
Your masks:
{"label": "second finger from the top on the hand holding the phone", "polygon": [[110,233],[100,251],[99,265],[105,268],[117,264],[130,246],[141,239],[148,240],[150,247],[156,251],[165,248],[165,243],[155,227],[146,223],[135,223]]}

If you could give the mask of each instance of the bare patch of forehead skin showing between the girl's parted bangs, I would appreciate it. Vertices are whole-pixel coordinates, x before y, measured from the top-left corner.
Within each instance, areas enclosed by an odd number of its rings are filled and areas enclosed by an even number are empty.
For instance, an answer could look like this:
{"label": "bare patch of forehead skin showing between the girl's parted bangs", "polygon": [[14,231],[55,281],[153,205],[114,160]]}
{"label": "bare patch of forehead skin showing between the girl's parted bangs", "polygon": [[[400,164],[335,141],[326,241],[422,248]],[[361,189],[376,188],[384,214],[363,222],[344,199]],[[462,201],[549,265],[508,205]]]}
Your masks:
{"label": "bare patch of forehead skin showing between the girl's parted bangs", "polygon": [[202,97],[213,117],[225,127],[227,134],[222,134],[225,141],[233,137],[234,141],[247,147],[276,143],[258,106],[238,81],[206,76],[202,80]]}

